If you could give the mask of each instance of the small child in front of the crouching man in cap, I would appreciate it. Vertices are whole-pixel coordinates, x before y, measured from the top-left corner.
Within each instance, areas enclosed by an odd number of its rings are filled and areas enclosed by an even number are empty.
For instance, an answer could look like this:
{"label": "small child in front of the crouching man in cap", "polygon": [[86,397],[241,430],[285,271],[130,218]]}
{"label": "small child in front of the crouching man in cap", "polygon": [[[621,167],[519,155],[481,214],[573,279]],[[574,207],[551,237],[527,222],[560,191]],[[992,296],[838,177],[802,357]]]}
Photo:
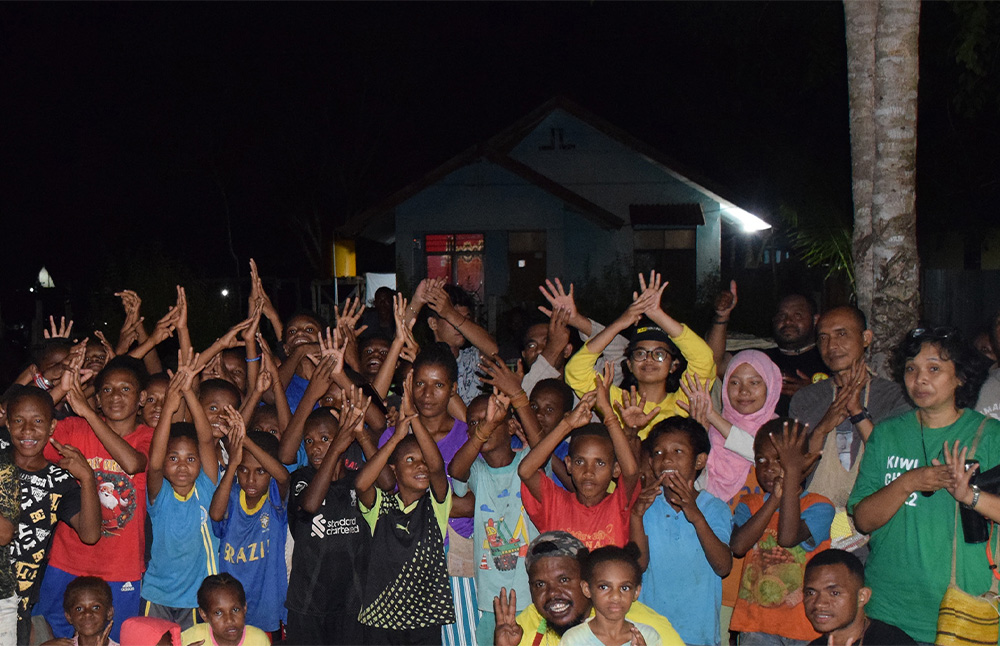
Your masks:
{"label": "small child in front of the crouching man in cap", "polygon": [[[562,646],[660,646],[655,628],[626,619],[642,590],[639,548],[606,545],[581,560],[583,594],[594,605],[594,616],[566,631]],[[672,636],[671,636],[672,637]]]}

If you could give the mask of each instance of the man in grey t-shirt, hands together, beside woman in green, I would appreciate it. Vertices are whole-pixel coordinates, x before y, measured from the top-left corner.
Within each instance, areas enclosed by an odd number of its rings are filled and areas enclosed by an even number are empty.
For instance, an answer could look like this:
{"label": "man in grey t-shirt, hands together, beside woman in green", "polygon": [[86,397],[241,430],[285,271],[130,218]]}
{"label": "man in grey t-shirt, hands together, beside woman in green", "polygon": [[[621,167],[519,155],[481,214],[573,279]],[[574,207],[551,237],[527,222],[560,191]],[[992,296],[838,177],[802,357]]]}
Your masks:
{"label": "man in grey t-shirt, hands together, beside woman in green", "polygon": [[809,490],[837,508],[833,544],[856,549],[866,539],[848,524],[846,506],[865,442],[876,424],[911,406],[899,384],[869,370],[865,353],[874,337],[864,312],[835,307],[820,316],[816,331],[820,356],[832,376],[795,393],[789,411],[812,429],[809,450],[822,453]]}

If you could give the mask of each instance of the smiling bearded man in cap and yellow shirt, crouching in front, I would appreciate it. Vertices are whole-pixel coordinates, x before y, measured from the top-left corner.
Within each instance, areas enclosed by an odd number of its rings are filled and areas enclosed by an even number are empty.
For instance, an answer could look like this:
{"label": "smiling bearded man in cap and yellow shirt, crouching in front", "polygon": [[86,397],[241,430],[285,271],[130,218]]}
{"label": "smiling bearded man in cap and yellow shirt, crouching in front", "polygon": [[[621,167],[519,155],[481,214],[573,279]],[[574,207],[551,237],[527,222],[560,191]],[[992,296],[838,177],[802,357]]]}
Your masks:
{"label": "smiling bearded man in cap and yellow shirt, crouching in front", "polygon": [[[594,614],[580,585],[578,558],[586,553],[583,543],[568,532],[545,532],[531,541],[524,559],[531,604],[518,614],[516,596],[501,588],[493,599],[495,646],[557,646],[563,633]],[[665,617],[638,601],[625,618],[655,628],[664,646],[684,643]]]}

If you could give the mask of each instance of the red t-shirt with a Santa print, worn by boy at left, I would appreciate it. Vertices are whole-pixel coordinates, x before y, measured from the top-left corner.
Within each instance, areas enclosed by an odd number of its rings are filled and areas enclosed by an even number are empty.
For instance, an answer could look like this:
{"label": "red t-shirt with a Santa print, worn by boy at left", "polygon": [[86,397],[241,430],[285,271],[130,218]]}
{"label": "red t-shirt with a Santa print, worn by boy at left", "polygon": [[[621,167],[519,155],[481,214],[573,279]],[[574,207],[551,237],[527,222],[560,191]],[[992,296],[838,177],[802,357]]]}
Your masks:
{"label": "red t-shirt with a Santa print, worn by boy at left", "polygon": [[[101,539],[96,545],[86,545],[76,530],[60,523],[52,539],[49,564],[70,574],[99,576],[105,581],[141,579],[146,541],[146,472],[131,476],[125,473],[82,417],[59,422],[53,437],[79,449],[94,470],[101,501]],[[140,424],[124,439],[149,457],[151,427]],[[51,444],[45,447],[45,457],[55,463],[62,459]]]}

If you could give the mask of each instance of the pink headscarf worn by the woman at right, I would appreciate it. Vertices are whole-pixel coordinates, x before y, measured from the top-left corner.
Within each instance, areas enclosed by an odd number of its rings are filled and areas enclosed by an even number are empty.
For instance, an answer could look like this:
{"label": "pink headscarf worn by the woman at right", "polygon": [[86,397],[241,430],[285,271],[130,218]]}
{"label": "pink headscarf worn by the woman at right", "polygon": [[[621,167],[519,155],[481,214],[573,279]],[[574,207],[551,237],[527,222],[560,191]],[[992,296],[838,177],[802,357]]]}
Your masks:
{"label": "pink headscarf worn by the woman at right", "polygon": [[[764,379],[767,387],[767,399],[760,410],[749,415],[737,412],[729,402],[728,385],[733,372],[744,363],[750,364]],[[734,426],[738,426],[750,435],[756,437],[757,430],[768,420],[777,415],[774,413],[781,397],[781,370],[774,362],[759,350],[744,350],[729,362],[726,376],[722,380],[722,416]],[[708,429],[708,439],[712,442],[712,451],[708,454],[708,484],[705,490],[716,498],[729,501],[739,493],[750,473],[752,462],[733,453],[726,448],[726,438],[722,437],[714,426]]]}

